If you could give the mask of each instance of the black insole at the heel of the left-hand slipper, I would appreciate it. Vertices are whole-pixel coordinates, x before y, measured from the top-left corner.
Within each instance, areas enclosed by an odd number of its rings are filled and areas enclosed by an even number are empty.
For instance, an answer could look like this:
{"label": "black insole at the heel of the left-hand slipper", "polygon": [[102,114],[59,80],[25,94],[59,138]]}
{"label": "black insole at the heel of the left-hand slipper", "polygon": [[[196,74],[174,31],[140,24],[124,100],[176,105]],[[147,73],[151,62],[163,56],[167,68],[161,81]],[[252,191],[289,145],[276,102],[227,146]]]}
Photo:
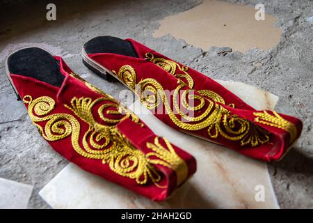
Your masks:
{"label": "black insole at the heel of the left-hand slipper", "polygon": [[11,74],[33,77],[58,87],[65,78],[58,61],[38,47],[19,49],[11,54],[8,57],[8,70]]}

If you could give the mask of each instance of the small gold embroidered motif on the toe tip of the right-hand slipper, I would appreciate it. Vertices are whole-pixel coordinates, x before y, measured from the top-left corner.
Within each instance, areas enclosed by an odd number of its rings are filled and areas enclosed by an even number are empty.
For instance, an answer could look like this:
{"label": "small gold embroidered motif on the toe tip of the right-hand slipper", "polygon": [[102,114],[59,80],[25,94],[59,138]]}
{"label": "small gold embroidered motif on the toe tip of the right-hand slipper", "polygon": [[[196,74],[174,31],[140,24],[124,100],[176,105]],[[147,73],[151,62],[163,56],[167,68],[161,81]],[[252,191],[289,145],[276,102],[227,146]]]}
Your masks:
{"label": "small gold embroidered motif on the toe tip of the right-hand slipper", "polygon": [[289,132],[290,140],[289,144],[294,142],[297,136],[297,128],[294,123],[287,121],[286,119],[282,118],[277,112],[272,111],[273,114],[268,114],[268,112],[255,112],[253,113],[255,116],[255,122],[262,123],[264,125],[270,125],[275,128],[280,128],[286,132]]}

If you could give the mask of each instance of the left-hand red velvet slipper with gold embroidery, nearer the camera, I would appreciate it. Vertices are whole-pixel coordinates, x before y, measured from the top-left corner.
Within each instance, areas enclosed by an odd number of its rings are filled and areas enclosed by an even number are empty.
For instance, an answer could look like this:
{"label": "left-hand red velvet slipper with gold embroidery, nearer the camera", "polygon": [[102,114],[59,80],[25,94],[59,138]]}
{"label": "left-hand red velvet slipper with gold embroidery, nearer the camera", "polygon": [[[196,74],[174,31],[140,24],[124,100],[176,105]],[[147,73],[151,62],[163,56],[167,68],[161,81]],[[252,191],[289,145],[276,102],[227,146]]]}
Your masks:
{"label": "left-hand red velvet slipper with gold embroidery, nearer the camera", "polygon": [[82,169],[154,201],[166,199],[195,173],[194,157],[75,75],[60,56],[20,49],[6,68],[42,137]]}

